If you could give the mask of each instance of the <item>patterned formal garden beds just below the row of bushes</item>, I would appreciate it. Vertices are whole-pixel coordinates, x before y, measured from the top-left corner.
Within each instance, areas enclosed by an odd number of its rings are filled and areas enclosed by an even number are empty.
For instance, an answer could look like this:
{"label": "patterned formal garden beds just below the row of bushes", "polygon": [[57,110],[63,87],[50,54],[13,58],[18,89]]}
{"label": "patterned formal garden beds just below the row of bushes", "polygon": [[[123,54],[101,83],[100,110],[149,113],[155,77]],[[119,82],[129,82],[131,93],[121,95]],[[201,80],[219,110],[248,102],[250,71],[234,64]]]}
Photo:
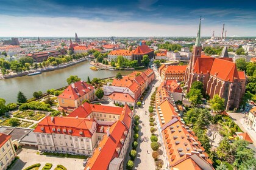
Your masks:
{"label": "patterned formal garden beds just below the row of bushes", "polygon": [[21,112],[18,112],[17,114],[13,115],[13,117],[17,118],[26,118],[28,120],[40,120],[41,118],[45,117],[45,112],[38,112],[33,110],[24,110]]}

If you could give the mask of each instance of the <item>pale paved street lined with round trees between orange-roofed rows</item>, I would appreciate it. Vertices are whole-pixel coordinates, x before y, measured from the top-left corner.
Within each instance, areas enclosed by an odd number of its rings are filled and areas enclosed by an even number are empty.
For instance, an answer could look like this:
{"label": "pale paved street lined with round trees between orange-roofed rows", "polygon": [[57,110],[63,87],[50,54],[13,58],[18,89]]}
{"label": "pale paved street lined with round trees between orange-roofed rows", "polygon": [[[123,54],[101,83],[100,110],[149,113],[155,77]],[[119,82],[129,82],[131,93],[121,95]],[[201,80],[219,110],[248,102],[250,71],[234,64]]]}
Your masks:
{"label": "pale paved street lined with round trees between orange-roofed rows", "polygon": [[[152,87],[152,84],[155,84],[154,87]],[[160,81],[154,80],[153,83],[151,83],[149,86],[151,89],[149,90],[148,94],[144,97],[144,102],[145,104],[137,109],[137,115],[140,116],[140,132],[139,138],[143,137],[148,137],[148,140],[138,142],[138,148],[137,148],[137,158],[134,161],[134,169],[138,170],[153,170],[155,169],[155,163],[154,159],[152,158],[152,149],[151,149],[151,131],[150,131],[150,126],[149,126],[149,114],[145,115],[145,111],[148,112],[149,109],[149,103],[150,103],[150,98],[153,92],[155,91],[155,87],[160,85]],[[144,126],[142,126],[142,123],[144,123]],[[147,151],[149,153],[147,153]]]}

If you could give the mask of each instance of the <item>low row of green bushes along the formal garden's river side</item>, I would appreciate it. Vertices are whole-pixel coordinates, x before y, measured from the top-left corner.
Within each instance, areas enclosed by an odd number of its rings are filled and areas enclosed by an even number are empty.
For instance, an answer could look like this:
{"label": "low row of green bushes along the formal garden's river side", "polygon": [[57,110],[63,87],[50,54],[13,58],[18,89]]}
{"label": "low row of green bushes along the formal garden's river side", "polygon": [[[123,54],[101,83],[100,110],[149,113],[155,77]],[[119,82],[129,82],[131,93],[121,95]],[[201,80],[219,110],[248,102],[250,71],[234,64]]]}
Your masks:
{"label": "low row of green bushes along the formal garden's river side", "polygon": [[27,109],[32,109],[32,110],[46,110],[49,111],[51,110],[51,105],[50,104],[45,104],[43,102],[38,102],[38,101],[31,101],[30,103],[24,103],[22,104],[19,109],[22,110],[27,110]]}

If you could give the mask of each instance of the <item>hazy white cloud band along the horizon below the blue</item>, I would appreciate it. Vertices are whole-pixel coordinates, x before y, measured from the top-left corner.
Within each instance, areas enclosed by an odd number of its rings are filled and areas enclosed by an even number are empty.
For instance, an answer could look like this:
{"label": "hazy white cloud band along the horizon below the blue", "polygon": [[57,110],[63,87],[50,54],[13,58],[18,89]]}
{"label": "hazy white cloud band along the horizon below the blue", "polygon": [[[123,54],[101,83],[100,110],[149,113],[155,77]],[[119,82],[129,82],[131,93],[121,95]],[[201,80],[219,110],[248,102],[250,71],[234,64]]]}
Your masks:
{"label": "hazy white cloud band along the horizon below the blue", "polygon": [[[191,23],[191,22],[190,22]],[[74,32],[82,36],[196,36],[198,23],[176,24],[168,20],[163,24],[139,21],[93,21],[89,19],[66,17],[32,17],[0,15],[0,36],[73,36]],[[255,29],[229,27],[227,35],[253,36]],[[202,36],[221,33],[222,25],[204,25]]]}

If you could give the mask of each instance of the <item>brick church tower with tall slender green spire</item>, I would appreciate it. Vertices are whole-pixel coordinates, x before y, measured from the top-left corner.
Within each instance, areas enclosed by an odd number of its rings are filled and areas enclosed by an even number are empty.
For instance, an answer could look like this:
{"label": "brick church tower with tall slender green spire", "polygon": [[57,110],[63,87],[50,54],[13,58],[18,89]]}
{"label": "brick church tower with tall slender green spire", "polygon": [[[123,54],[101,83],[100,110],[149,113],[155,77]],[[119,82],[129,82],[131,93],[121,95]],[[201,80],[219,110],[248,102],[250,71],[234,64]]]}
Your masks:
{"label": "brick church tower with tall slender green spire", "polygon": [[202,53],[202,45],[201,45],[201,17],[200,17],[200,22],[199,22],[199,29],[197,32],[197,36],[196,36],[196,43],[193,46],[193,52],[192,52],[192,56],[190,59],[190,72],[193,70],[194,68],[194,63],[196,63],[197,58],[201,57],[201,53]]}

